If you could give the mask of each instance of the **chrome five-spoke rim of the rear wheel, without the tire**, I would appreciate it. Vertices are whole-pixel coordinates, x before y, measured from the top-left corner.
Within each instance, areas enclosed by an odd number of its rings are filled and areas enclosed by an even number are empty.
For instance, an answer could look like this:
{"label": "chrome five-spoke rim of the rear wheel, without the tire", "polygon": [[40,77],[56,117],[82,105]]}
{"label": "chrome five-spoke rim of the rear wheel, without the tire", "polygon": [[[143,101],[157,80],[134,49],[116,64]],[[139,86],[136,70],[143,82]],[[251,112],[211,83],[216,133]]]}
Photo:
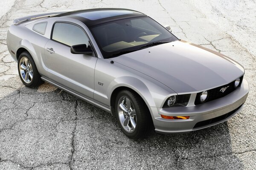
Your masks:
{"label": "chrome five-spoke rim of the rear wheel, without the tire", "polygon": [[33,68],[32,64],[27,57],[22,57],[19,63],[20,76],[23,81],[26,83],[30,83],[33,79]]}

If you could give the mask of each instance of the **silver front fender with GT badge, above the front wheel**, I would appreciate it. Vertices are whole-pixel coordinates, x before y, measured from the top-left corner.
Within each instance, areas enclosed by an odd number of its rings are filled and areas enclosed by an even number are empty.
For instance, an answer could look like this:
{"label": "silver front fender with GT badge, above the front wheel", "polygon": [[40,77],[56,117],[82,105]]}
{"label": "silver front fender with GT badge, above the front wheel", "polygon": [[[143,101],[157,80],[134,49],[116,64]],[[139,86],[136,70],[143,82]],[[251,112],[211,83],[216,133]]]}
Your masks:
{"label": "silver front fender with GT badge, above the front wheel", "polygon": [[[95,68],[94,99],[103,104],[110,105],[111,94],[118,87],[128,87],[136,91],[151,107],[160,107],[163,96],[176,95],[172,89],[151,77],[117,62],[111,64],[110,61],[111,59],[98,59]],[[98,82],[104,85],[101,86]]]}

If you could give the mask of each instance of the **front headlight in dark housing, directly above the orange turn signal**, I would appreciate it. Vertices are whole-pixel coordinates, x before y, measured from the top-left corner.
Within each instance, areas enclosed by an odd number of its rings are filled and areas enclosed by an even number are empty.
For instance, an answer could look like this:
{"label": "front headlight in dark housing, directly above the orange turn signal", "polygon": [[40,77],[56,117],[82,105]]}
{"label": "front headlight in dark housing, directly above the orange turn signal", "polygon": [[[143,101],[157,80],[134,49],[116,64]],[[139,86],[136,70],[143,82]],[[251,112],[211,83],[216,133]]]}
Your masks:
{"label": "front headlight in dark housing, directly above the orange turn signal", "polygon": [[190,94],[170,96],[163,105],[163,108],[172,106],[186,106],[189,103]]}

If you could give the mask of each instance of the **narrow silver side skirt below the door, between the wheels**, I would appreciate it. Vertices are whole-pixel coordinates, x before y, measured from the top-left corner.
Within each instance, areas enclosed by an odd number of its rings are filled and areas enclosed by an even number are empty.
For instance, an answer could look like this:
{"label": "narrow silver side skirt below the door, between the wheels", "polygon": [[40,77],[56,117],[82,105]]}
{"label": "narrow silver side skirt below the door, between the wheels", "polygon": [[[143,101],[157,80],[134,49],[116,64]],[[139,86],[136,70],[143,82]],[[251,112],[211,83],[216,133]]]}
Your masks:
{"label": "narrow silver side skirt below the door, between the wheels", "polygon": [[95,101],[93,101],[93,100],[91,100],[91,99],[88,99],[88,98],[86,98],[86,97],[84,97],[84,96],[81,96],[80,94],[77,94],[77,93],[74,92],[74,91],[71,91],[71,90],[69,90],[69,89],[67,89],[67,88],[64,88],[63,86],[61,86],[61,85],[59,85],[59,84],[57,84],[57,83],[55,83],[55,82],[52,82],[51,80],[47,79],[46,77],[41,77],[41,79],[44,80],[45,82],[48,82],[48,83],[51,84],[51,85],[56,86],[57,88],[59,88],[59,89],[61,89],[61,90],[63,90],[63,91],[66,91],[66,92],[69,93],[69,94],[72,94],[73,96],[78,97],[78,98],[81,99],[81,100],[84,100],[85,102],[90,103],[91,105],[94,105],[94,106],[96,106],[96,107],[98,107],[98,108],[101,108],[102,110],[104,110],[104,111],[106,111],[106,112],[108,112],[108,113],[111,113],[111,110],[110,110],[110,108],[108,108],[108,107],[105,107],[105,106],[103,106],[103,105],[101,105],[101,104],[99,104],[99,103],[97,103],[97,102],[95,102]]}

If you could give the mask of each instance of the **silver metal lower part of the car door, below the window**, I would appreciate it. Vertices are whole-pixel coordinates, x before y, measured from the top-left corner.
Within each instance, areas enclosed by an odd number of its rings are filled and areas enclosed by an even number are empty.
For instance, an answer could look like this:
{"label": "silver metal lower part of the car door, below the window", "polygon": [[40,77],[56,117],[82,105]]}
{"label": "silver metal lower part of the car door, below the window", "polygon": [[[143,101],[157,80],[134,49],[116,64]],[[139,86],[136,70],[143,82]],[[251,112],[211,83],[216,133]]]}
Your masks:
{"label": "silver metal lower part of the car door, below the window", "polygon": [[52,54],[44,51],[49,79],[93,99],[94,69],[98,58],[71,54],[69,46],[53,40],[49,40],[46,47],[55,51]]}

